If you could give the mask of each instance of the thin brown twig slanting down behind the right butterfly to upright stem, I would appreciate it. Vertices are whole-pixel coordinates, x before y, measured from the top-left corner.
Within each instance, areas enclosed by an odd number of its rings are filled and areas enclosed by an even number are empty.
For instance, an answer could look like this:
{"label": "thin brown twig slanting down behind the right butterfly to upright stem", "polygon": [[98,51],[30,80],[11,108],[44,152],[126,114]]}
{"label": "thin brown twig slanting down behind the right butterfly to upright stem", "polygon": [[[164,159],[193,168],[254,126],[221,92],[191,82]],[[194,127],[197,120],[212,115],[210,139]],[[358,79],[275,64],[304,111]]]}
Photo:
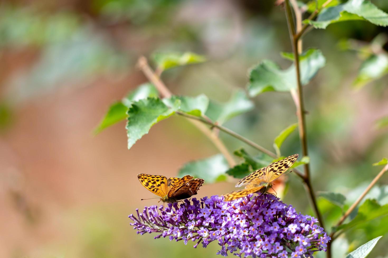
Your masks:
{"label": "thin brown twig slanting down behind the right butterfly to upright stem", "polygon": [[[233,136],[234,138],[236,139],[239,139],[241,140],[242,142],[245,142],[246,144],[248,144],[249,146],[255,148],[256,150],[260,150],[261,152],[267,154],[268,156],[270,157],[273,157],[273,158],[278,158],[279,156],[276,155],[275,153],[271,152],[270,150],[267,150],[265,149],[264,147],[256,144],[255,142],[252,142],[251,140],[239,135],[238,133],[236,132],[233,132],[232,130],[222,126],[222,125],[218,125],[217,123],[213,123],[211,121],[207,121],[207,120],[204,120],[203,118],[200,118],[198,116],[193,116],[191,114],[187,114],[187,113],[184,113],[184,112],[180,112],[180,111],[177,111],[176,114],[178,115],[181,115],[181,116],[185,116],[187,118],[191,118],[193,120],[198,120],[198,121],[201,121],[202,123],[205,123],[207,125],[210,125],[211,127],[215,127],[215,128],[218,128],[220,131],[224,132],[224,133],[227,133],[229,134],[230,136]],[[304,175],[301,173],[300,170],[296,169],[296,168],[293,168],[293,171],[300,177],[304,180]]]}

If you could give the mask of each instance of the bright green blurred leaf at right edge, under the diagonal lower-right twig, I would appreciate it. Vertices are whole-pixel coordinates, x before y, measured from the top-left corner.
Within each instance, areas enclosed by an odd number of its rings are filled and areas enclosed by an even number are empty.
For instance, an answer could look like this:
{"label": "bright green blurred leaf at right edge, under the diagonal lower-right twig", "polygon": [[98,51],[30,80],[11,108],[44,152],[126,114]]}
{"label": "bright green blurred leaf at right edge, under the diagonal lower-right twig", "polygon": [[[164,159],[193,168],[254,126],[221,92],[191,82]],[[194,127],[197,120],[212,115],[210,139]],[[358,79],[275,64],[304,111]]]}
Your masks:
{"label": "bright green blurred leaf at right edge, under the diagonal lower-right twig", "polygon": [[360,206],[356,217],[349,223],[342,224],[341,226],[337,227],[336,231],[341,229],[345,231],[359,224],[379,217],[384,217],[386,215],[388,215],[388,204],[381,206],[376,200],[367,199]]}

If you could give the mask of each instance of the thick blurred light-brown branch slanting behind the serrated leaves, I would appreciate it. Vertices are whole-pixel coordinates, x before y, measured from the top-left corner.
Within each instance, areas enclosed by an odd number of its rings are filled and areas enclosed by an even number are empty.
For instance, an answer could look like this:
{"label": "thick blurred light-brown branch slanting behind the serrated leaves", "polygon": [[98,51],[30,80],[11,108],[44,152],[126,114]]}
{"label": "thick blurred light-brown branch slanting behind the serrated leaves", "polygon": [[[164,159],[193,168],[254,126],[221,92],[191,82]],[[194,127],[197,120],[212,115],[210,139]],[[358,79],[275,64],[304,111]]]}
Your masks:
{"label": "thick blurred light-brown branch slanting behind the serrated leaves", "polygon": [[[166,87],[166,85],[159,78],[159,76],[148,65],[147,58],[145,58],[144,56],[141,56],[137,62],[137,66],[142,70],[145,77],[147,77],[147,79],[155,85],[156,89],[158,89],[159,94],[162,97],[172,96],[172,93],[170,92],[170,90]],[[223,144],[220,138],[217,137],[215,133],[211,132],[211,130],[208,127],[206,127],[203,123],[200,123],[199,121],[193,121],[193,120],[189,120],[189,121],[191,121],[191,123],[193,123],[204,135],[206,135],[211,140],[211,142],[213,142],[213,144],[225,157],[230,167],[236,166],[236,161],[234,161],[232,155],[229,153],[229,150],[226,148],[226,146]]]}

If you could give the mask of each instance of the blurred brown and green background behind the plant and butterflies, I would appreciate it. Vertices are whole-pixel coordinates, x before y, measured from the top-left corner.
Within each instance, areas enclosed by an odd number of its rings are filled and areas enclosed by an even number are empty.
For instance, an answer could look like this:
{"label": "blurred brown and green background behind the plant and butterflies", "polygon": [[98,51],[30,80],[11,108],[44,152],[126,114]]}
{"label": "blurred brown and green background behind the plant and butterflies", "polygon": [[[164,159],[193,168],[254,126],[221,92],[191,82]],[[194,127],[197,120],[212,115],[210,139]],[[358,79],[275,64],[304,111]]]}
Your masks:
{"label": "blurred brown and green background behind the plant and butterflies", "polygon": [[[186,162],[217,150],[186,120],[173,117],[127,150],[125,123],[93,136],[109,104],[146,81],[135,68],[140,55],[192,51],[208,62],[174,68],[163,80],[174,94],[226,101],[245,89],[247,71],[263,59],[282,68],[291,51],[284,10],[254,0],[59,0],[0,3],[0,256],[1,257],[215,257],[217,244],[136,235],[127,215],[152,205],[136,174],[176,176]],[[372,1],[388,12],[388,2]],[[305,87],[312,180],[351,204],[379,172],[388,132],[388,77],[359,89],[354,81],[376,36],[388,49],[388,29],[363,21],[312,30],[304,48],[316,47],[326,66]],[[365,54],[367,53],[367,54]],[[289,94],[266,92],[255,109],[225,126],[272,150],[278,133],[296,123]],[[220,133],[233,151],[244,147]],[[301,154],[298,133],[282,154]],[[300,179],[288,176],[283,201],[314,215]],[[371,198],[388,203],[388,178]],[[205,184],[198,197],[231,191],[229,183]],[[323,198],[329,229],[341,208]],[[388,217],[356,227],[334,244],[333,257],[388,232]],[[386,256],[383,237],[369,257]],[[210,250],[209,250],[210,249]],[[320,256],[321,257],[321,256]]]}

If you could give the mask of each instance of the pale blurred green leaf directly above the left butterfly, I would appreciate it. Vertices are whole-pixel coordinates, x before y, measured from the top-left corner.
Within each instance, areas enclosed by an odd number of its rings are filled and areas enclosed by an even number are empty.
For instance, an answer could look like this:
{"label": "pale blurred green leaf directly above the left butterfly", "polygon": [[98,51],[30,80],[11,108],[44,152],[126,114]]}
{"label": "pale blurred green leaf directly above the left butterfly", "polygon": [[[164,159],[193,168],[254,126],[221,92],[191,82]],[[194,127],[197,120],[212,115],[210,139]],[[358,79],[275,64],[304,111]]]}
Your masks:
{"label": "pale blurred green leaf directly above the left butterfly", "polygon": [[191,175],[203,178],[206,183],[215,183],[227,179],[225,171],[229,168],[228,162],[222,154],[206,159],[186,163],[179,171],[178,176]]}

